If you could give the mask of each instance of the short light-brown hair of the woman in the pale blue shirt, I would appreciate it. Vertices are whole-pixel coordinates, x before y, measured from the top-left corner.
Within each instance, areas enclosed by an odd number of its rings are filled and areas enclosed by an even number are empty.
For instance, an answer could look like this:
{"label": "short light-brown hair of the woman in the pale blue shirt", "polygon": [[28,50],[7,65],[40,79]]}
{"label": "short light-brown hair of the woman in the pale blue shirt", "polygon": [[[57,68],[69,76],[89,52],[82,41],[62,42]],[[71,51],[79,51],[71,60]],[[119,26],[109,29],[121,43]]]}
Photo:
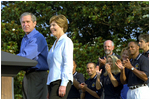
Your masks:
{"label": "short light-brown hair of the woman in the pale blue shirt", "polygon": [[49,23],[56,22],[59,27],[63,28],[64,33],[67,32],[68,29],[68,21],[64,15],[55,15],[50,18]]}

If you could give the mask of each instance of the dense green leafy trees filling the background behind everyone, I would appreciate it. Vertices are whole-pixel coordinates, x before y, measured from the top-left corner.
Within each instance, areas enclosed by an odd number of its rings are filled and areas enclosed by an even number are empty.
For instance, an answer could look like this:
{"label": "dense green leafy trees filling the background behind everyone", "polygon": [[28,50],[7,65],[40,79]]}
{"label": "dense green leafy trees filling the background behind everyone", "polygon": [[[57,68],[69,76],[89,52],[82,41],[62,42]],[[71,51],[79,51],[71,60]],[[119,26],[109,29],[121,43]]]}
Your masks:
{"label": "dense green leafy trees filling the background behind everyone", "polygon": [[[41,32],[49,49],[55,41],[50,36],[49,19],[53,15],[67,17],[67,35],[74,43],[77,71],[86,74],[88,62],[97,63],[104,56],[103,42],[114,41],[114,52],[120,55],[130,40],[149,34],[149,1],[1,1],[1,50],[17,54],[25,35],[20,15],[31,12],[37,17],[36,29]],[[142,52],[142,51],[140,51]],[[15,98],[22,98],[24,71],[14,78]]]}

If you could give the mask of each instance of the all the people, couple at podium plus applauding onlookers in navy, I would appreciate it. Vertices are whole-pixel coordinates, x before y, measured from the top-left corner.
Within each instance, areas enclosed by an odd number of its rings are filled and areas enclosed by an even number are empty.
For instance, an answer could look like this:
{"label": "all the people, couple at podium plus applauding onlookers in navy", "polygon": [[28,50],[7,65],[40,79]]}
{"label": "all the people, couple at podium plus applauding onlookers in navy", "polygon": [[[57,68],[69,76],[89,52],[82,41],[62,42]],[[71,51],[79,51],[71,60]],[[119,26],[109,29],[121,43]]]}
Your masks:
{"label": "all the people, couple at podium plus applauding onlookers in navy", "polygon": [[[20,17],[25,36],[18,56],[36,60],[35,67],[25,69],[24,99],[143,99],[149,98],[149,35],[141,34],[139,42],[130,41],[116,55],[114,42],[104,42],[104,57],[97,64],[89,62],[85,80],[76,71],[73,42],[65,34],[68,21],[64,15],[50,18],[50,31],[56,40],[50,50],[44,36],[35,29],[36,17],[25,12]],[[143,53],[139,53],[139,49]],[[47,73],[49,70],[49,73]]]}

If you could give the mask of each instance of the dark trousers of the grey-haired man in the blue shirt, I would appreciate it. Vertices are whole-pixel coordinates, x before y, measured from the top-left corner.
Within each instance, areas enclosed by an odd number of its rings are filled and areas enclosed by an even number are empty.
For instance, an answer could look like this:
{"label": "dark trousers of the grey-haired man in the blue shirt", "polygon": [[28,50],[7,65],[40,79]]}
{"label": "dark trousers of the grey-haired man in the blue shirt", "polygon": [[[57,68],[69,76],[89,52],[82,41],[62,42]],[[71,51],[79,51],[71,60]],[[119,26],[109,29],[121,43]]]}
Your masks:
{"label": "dark trousers of the grey-haired man in the blue shirt", "polygon": [[26,73],[23,78],[22,90],[24,99],[47,98],[47,71],[34,71]]}

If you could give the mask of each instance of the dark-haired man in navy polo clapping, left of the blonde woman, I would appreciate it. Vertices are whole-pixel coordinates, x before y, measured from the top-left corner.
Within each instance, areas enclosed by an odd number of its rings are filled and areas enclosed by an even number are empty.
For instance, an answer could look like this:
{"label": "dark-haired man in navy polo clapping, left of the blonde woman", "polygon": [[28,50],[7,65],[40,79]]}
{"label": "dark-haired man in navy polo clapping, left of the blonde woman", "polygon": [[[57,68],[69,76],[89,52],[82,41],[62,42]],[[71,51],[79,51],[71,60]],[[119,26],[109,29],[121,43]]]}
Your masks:
{"label": "dark-haired man in navy polo clapping, left of the blonde woman", "polygon": [[96,89],[96,64],[88,63],[86,69],[90,78],[85,81],[85,83],[80,84],[80,88],[82,90],[81,99],[97,99],[100,98],[102,94],[102,89]]}

